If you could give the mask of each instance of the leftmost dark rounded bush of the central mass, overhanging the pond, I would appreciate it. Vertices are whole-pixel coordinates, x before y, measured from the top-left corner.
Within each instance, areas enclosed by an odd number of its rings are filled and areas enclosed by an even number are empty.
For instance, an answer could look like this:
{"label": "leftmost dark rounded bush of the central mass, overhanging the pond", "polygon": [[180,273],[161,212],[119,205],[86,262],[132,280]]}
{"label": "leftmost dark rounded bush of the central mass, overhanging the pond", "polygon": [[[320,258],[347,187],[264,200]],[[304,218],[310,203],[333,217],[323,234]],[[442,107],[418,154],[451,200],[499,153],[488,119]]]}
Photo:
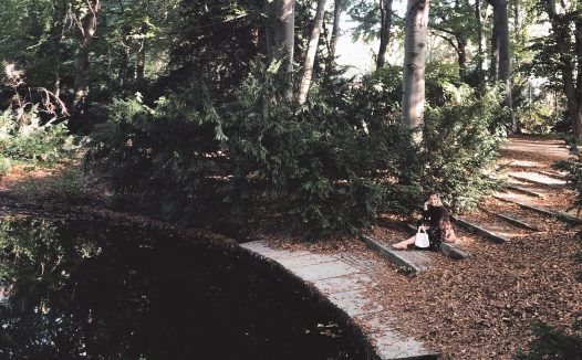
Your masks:
{"label": "leftmost dark rounded bush of the central mass, overhanging the pond", "polygon": [[139,96],[116,99],[95,129],[89,159],[108,174],[119,202],[167,219],[216,204],[212,176],[220,174],[226,138],[205,89],[185,94],[162,97],[155,108]]}

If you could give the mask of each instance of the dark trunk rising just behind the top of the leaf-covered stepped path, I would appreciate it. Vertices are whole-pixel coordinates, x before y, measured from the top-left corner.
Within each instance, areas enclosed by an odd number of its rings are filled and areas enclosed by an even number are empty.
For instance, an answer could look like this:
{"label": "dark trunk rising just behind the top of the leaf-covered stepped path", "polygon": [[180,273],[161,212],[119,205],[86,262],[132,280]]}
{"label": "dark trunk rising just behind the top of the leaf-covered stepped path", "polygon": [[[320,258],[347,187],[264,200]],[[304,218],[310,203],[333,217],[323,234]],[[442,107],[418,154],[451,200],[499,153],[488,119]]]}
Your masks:
{"label": "dark trunk rising just behind the top of the leaf-covered stepped path", "polygon": [[499,81],[503,84],[503,105],[509,108],[511,118],[511,131],[516,131],[516,119],[513,117],[511,100],[511,56],[509,50],[509,19],[507,0],[497,0],[495,11],[497,12],[497,40],[499,45]]}

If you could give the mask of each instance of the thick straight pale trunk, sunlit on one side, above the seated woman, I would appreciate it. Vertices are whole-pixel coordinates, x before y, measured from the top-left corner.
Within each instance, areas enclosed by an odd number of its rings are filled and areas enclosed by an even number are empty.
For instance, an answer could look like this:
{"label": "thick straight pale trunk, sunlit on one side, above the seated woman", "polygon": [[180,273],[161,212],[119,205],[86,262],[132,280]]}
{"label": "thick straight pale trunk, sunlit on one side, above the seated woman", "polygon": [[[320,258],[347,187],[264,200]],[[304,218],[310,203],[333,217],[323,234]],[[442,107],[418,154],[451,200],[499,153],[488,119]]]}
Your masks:
{"label": "thick straight pale trunk, sunlit on one side, above the seated woman", "polygon": [[425,106],[426,34],[429,0],[408,0],[404,42],[403,124],[422,124]]}

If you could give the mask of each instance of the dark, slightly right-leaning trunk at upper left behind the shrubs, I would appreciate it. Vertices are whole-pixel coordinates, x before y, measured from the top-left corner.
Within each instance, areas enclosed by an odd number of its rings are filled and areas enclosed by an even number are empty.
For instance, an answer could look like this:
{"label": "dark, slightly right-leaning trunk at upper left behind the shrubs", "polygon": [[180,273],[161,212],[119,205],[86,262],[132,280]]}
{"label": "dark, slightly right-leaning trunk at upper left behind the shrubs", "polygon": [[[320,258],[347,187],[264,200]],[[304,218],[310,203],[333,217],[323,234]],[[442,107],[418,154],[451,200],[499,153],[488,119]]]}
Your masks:
{"label": "dark, slightly right-leaning trunk at upper left behind the shrubs", "polygon": [[75,80],[74,80],[74,108],[79,108],[83,104],[89,87],[89,66],[90,66],[90,47],[93,38],[95,36],[95,30],[97,28],[97,17],[101,10],[100,0],[87,1],[87,12],[79,21],[79,52],[76,55],[75,64]]}

